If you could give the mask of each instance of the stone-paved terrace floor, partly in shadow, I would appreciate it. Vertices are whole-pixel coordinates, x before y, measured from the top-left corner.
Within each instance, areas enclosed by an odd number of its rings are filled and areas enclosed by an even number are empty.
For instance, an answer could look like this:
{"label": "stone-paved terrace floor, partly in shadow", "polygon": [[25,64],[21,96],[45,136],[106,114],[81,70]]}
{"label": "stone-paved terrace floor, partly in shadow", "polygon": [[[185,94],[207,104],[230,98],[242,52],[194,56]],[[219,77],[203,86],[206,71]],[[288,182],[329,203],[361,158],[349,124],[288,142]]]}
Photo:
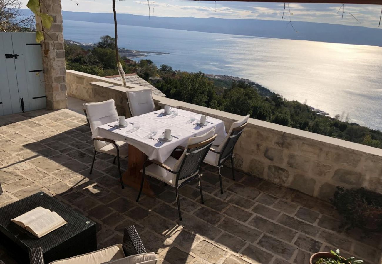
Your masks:
{"label": "stone-paved terrace floor, partly in shadow", "polygon": [[[229,169],[220,195],[216,169],[204,167],[204,205],[197,182],[180,189],[183,221],[173,188],[160,182],[151,182],[156,198],[136,203],[111,156],[98,155],[89,175],[85,124],[68,109],[0,117],[0,206],[42,190],[99,223],[99,248],[120,243],[123,227],[134,224],[159,263],[308,264],[312,253],[336,248],[369,264],[380,256],[381,235],[339,229],[329,204],[240,173],[234,182]],[[13,263],[1,249],[0,259]]]}

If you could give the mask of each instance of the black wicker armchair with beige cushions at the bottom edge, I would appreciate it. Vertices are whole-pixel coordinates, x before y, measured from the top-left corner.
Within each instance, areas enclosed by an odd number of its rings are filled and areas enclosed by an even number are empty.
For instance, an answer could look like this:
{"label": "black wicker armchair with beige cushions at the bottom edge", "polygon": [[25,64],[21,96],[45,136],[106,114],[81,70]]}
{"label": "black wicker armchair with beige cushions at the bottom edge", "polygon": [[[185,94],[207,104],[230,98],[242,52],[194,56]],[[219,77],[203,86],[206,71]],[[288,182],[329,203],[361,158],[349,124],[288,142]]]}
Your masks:
{"label": "black wicker armchair with beige cushions at the bottom edge", "polygon": [[[29,251],[29,261],[31,264],[44,264],[42,249],[31,249]],[[155,264],[156,262],[156,254],[146,252],[134,225],[131,225],[125,228],[122,244],[71,258],[59,259],[49,264]]]}

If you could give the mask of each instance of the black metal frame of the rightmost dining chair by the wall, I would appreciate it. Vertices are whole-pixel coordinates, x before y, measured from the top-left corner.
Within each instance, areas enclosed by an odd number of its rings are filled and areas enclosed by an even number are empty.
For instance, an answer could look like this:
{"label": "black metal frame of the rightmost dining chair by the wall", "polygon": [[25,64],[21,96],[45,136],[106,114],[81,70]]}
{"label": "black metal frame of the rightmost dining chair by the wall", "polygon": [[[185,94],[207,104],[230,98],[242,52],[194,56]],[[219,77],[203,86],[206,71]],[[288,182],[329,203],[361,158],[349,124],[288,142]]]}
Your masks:
{"label": "black metal frame of the rightmost dining chair by the wall", "polygon": [[[235,180],[235,169],[233,167],[234,165],[234,162],[233,162],[233,149],[235,148],[235,145],[236,143],[238,142],[239,140],[239,137],[241,135],[241,133],[243,133],[243,130],[244,128],[248,125],[248,122],[246,122],[245,124],[241,125],[240,127],[236,127],[234,129],[232,129],[232,132],[231,134],[229,135],[229,138],[227,140],[227,142],[225,142],[225,145],[223,146],[223,149],[221,152],[215,150],[214,148],[210,148],[210,151],[216,153],[217,155],[219,155],[219,163],[217,164],[217,167],[219,168],[219,182],[220,182],[220,193],[223,194],[223,184],[222,184],[222,174],[220,173],[220,169],[223,167],[223,164],[222,164],[222,160],[223,160],[223,163],[224,161],[227,160],[227,158],[231,158],[231,169],[232,169],[232,179]],[[227,147],[228,147],[228,144],[230,143],[231,140],[235,140],[233,142],[233,145],[231,146],[231,149],[228,150],[228,152],[226,151],[227,150]],[[225,155],[224,157],[222,156],[224,153],[227,153],[227,155]]]}

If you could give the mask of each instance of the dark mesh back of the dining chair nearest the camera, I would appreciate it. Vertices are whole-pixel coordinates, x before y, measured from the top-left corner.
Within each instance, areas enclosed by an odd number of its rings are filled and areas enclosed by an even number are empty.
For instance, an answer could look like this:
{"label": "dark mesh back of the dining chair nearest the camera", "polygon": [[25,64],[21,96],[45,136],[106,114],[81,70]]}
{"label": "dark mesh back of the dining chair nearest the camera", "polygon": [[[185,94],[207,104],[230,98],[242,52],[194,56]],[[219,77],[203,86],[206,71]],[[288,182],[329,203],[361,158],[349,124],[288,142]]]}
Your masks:
{"label": "dark mesh back of the dining chair nearest the camera", "polygon": [[212,146],[217,134],[211,138],[194,145],[189,145],[185,151],[185,156],[183,162],[181,163],[178,175],[176,177],[176,186],[178,186],[178,181],[186,179],[195,175],[199,172],[201,164],[206,158],[206,155]]}

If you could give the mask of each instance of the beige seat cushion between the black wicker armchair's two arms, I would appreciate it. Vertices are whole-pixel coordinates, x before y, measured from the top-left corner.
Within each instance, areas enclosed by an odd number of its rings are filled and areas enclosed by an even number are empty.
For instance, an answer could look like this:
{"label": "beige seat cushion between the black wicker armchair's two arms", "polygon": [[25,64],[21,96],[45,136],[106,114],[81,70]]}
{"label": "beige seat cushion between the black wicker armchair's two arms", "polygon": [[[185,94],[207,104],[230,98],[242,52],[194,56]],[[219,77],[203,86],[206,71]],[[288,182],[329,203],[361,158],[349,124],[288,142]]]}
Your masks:
{"label": "beige seat cushion between the black wicker armchair's two arms", "polygon": [[117,244],[79,256],[52,261],[49,264],[101,264],[114,259],[122,258],[125,258],[122,244]]}

